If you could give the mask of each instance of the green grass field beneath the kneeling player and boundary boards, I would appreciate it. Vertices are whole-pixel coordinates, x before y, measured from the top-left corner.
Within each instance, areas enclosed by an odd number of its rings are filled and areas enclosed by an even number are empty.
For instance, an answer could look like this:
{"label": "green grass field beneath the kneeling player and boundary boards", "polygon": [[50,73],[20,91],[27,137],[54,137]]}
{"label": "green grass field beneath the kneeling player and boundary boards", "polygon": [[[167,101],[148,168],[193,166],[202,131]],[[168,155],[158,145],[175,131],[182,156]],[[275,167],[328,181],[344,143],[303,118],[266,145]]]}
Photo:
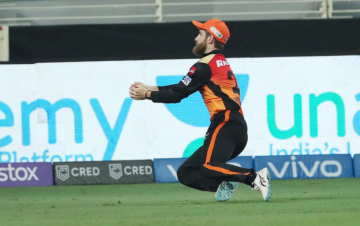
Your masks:
{"label": "green grass field beneath the kneeling player and boundary boards", "polygon": [[360,225],[360,178],[271,184],[269,203],[246,185],[222,203],[180,183],[0,188],[0,225]]}

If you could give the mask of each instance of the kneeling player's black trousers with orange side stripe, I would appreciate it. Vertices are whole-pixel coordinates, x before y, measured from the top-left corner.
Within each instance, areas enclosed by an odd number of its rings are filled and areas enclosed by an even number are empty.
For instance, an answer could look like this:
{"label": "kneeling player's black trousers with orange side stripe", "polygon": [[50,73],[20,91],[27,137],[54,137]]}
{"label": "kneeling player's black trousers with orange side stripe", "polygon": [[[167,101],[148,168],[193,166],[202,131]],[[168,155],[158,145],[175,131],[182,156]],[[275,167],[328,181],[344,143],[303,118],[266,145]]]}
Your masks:
{"label": "kneeling player's black trousers with orange side stripe", "polygon": [[211,121],[203,146],[177,170],[177,178],[188,187],[215,192],[222,181],[251,185],[254,169],[226,164],[238,156],[247,143],[247,125],[237,110],[217,113]]}

